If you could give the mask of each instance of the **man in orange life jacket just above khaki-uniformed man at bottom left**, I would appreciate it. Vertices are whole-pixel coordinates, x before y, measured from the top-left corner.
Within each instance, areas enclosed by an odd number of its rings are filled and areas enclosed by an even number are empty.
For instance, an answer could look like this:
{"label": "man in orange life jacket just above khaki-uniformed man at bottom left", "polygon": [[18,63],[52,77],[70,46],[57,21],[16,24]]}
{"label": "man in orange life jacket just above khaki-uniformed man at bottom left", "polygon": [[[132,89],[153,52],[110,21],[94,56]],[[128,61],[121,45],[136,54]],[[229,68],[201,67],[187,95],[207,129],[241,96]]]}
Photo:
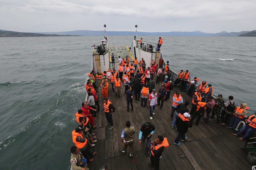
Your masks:
{"label": "man in orange life jacket just above khaki-uniformed man at bottom left", "polygon": [[80,152],[83,156],[90,161],[93,161],[92,158],[97,152],[91,153],[88,150],[87,139],[83,134],[83,130],[81,127],[77,127],[75,130],[72,131],[72,140],[75,143],[75,146],[79,148]]}

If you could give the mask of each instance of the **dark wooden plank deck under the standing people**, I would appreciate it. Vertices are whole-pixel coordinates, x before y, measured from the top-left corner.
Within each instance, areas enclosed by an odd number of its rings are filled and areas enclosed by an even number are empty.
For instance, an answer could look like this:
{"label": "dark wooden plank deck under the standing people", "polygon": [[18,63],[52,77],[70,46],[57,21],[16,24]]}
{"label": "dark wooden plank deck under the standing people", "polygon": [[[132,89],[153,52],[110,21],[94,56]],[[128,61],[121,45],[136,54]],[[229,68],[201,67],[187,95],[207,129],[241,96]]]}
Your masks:
{"label": "dark wooden plank deck under the standing people", "polygon": [[[98,80],[98,83],[101,80]],[[97,84],[98,84],[97,83]],[[159,84],[156,85],[159,89]],[[150,160],[144,154],[145,143],[138,145],[138,136],[140,127],[145,122],[151,122],[155,125],[156,131],[153,138],[156,139],[158,135],[167,137],[169,147],[165,148],[162,159],[160,160],[160,169],[251,169],[252,165],[246,161],[247,153],[241,148],[245,144],[245,140],[238,140],[238,137],[231,135],[231,131],[226,126],[215,123],[215,119],[211,119],[208,124],[200,123],[198,126],[194,125],[189,128],[187,132],[188,139],[181,142],[181,145],[173,144],[178,132],[171,127],[172,120],[169,119],[172,96],[178,90],[174,88],[171,91],[170,99],[165,101],[162,110],[156,106],[154,110],[153,120],[149,119],[149,111],[146,107],[140,106],[140,101],[134,101],[134,111],[127,112],[127,103],[124,95],[124,88],[121,90],[121,98],[115,97],[109,85],[109,100],[116,107],[113,114],[114,127],[112,130],[106,128],[106,139],[100,140],[97,136],[97,129],[105,127],[106,118],[103,109],[103,97],[99,90],[100,97],[100,112],[95,117],[98,128],[94,130],[99,141],[94,148],[98,153],[94,156],[94,161],[89,163],[90,170],[98,170],[103,165],[107,164],[108,170],[141,170],[151,169],[148,165]],[[192,98],[185,92],[181,92],[184,102],[189,101],[189,110],[191,109]],[[135,127],[134,135],[134,158],[129,158],[129,148],[127,153],[121,153],[121,131],[125,128],[125,122],[129,120],[131,126]],[[159,124],[158,122],[162,122]],[[203,120],[201,119],[201,122]],[[151,139],[153,139],[151,138]],[[184,155],[181,158],[180,155]]]}

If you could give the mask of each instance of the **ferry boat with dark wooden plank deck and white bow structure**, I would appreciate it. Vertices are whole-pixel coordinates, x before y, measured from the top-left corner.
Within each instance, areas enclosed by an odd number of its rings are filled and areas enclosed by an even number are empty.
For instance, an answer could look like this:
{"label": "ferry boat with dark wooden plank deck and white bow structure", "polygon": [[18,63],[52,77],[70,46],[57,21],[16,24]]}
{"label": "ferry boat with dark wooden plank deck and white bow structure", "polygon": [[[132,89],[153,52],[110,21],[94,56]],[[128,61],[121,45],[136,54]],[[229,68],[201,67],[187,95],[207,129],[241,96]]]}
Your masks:
{"label": "ferry boat with dark wooden plank deck and white bow structure", "polygon": [[[143,40],[141,44],[136,35],[132,40],[132,47],[124,45],[116,47],[110,44],[111,41],[108,41],[104,45],[102,40],[91,46],[91,70],[95,71],[95,76],[100,75],[103,71],[117,70],[118,56],[121,56],[121,58],[128,56],[130,62],[137,57],[138,64],[143,58],[146,67],[150,67],[152,61],[156,62],[158,68],[160,65],[165,66],[166,64],[161,49],[157,49],[157,42],[150,43],[147,40]],[[115,55],[114,64],[111,63],[112,53]],[[171,70],[171,73],[171,80],[174,82],[178,74],[173,70]],[[97,80],[97,86],[101,82],[102,80]],[[191,110],[192,98],[185,92],[188,88],[189,85],[181,92],[181,96],[183,101],[189,101],[188,108]],[[159,90],[159,84],[156,85],[156,89]],[[118,98],[112,92],[111,85],[109,84],[108,98],[116,108],[116,111],[113,113],[114,127],[110,130],[105,126],[107,121],[104,110],[102,110],[103,97],[99,90],[97,95],[100,97],[100,111],[97,117],[95,117],[95,123],[98,124],[98,127],[93,131],[97,136],[98,142],[95,143],[95,147],[89,148],[91,151],[97,151],[97,154],[94,156],[94,161],[88,164],[89,168],[95,170],[152,169],[148,164],[150,160],[144,153],[145,143],[138,145],[141,125],[151,122],[156,128],[151,139],[156,139],[158,135],[162,135],[167,137],[169,143],[169,147],[165,148],[162,153],[160,169],[251,169],[253,164],[247,161],[247,155],[248,152],[254,151],[255,147],[253,145],[248,146],[250,143],[246,140],[238,140],[238,137],[231,135],[233,132],[229,128],[215,123],[215,120],[211,118],[208,124],[200,123],[198,126],[194,125],[192,128],[189,128],[186,134],[187,140],[181,142],[181,145],[173,144],[178,132],[175,128],[171,127],[172,120],[169,118],[173,102],[172,96],[176,91],[180,91],[178,87],[171,90],[170,99],[164,102],[161,110],[159,106],[156,106],[153,120],[150,120],[149,110],[146,107],[141,107],[140,101],[133,101],[134,111],[127,112],[124,88],[121,90],[121,98]],[[122,149],[121,131],[125,128],[125,122],[128,120],[131,122],[131,126],[135,128],[133,158],[129,158],[129,148],[127,148],[128,152],[126,153],[119,151]]]}

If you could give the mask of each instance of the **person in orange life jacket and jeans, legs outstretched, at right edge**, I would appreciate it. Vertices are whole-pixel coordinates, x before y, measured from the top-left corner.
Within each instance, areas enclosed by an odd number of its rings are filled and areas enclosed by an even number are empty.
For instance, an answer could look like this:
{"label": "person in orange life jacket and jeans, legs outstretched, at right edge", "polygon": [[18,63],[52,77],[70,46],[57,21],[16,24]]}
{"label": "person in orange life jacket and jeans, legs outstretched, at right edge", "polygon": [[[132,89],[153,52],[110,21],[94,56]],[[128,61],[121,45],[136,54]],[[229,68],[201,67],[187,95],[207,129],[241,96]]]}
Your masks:
{"label": "person in orange life jacket and jeans, legs outstretched, at right edge", "polygon": [[249,116],[248,119],[245,120],[245,123],[246,124],[241,130],[239,130],[237,133],[232,134],[238,136],[243,132],[246,132],[243,137],[238,138],[240,140],[247,139],[253,132],[256,132],[256,112],[253,115]]}

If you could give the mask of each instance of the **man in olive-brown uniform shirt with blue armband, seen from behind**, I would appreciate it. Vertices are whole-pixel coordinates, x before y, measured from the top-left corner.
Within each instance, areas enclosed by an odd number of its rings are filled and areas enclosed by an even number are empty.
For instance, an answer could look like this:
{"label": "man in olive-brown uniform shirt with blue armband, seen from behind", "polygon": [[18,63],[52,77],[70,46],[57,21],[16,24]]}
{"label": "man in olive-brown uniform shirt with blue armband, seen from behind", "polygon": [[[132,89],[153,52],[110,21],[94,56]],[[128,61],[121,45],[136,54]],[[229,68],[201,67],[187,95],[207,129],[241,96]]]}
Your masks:
{"label": "man in olive-brown uniform shirt with blue armband, seen from behind", "polygon": [[131,122],[127,121],[125,123],[126,128],[124,128],[122,130],[122,135],[121,135],[121,141],[123,144],[123,149],[121,149],[120,151],[122,153],[126,152],[127,147],[129,146],[130,149],[130,158],[132,158],[132,154],[133,154],[133,135],[135,134],[135,129],[134,127],[131,126]]}

